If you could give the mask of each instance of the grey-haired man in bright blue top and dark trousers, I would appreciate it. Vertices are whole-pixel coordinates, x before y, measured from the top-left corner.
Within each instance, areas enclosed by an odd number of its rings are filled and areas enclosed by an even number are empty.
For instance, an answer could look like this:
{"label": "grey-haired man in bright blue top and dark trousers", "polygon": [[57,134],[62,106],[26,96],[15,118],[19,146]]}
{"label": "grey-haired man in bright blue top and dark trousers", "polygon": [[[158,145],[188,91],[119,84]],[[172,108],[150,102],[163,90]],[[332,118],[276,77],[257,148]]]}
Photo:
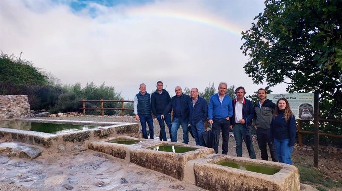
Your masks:
{"label": "grey-haired man in bright blue top and dark trousers", "polygon": [[[212,95],[209,100],[208,122],[212,125],[216,136],[222,132],[222,154],[228,153],[230,118],[233,116],[232,100],[227,95],[227,83],[219,84],[219,93]],[[214,146],[215,153],[219,153],[219,142]]]}

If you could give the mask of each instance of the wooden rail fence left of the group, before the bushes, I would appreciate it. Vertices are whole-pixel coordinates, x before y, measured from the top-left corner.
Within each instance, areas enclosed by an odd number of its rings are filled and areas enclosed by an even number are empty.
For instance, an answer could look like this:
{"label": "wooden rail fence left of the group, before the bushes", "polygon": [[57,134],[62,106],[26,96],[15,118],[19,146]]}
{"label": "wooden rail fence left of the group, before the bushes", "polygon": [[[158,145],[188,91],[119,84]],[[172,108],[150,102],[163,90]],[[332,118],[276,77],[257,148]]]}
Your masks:
{"label": "wooden rail fence left of the group, before the bushes", "polygon": [[[101,110],[101,116],[103,116],[104,114],[103,114],[103,111],[104,110],[121,110],[121,115],[122,116],[124,116],[125,115],[125,110],[127,110],[127,111],[133,111],[134,109],[132,109],[132,108],[125,108],[125,102],[127,102],[127,103],[133,103],[134,101],[129,101],[129,100],[124,100],[124,99],[121,99],[121,100],[103,100],[103,99],[101,99],[101,100],[81,100],[81,101],[79,101],[79,102],[82,102],[82,108],[80,108],[80,109],[82,109],[82,114],[83,115],[85,115],[85,111],[86,110]],[[100,102],[100,107],[95,107],[95,108],[86,108],[85,107],[85,103],[86,102]],[[121,108],[104,108],[103,107],[103,103],[104,102],[121,102]]]}

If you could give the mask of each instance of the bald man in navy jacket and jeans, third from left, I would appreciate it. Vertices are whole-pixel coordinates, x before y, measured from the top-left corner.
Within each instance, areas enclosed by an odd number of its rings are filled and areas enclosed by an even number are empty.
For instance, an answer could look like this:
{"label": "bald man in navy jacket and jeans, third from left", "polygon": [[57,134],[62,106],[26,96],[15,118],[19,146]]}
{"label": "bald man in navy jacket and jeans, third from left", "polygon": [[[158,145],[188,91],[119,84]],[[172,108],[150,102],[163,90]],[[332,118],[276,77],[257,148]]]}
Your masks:
{"label": "bald man in navy jacket and jeans, third from left", "polygon": [[165,115],[173,109],[173,123],[171,127],[172,142],[177,142],[177,132],[179,126],[183,127],[183,143],[189,143],[189,100],[190,97],[182,93],[182,88],[177,86],[174,91],[176,95],[172,97],[171,102],[166,106],[163,111],[162,119]]}

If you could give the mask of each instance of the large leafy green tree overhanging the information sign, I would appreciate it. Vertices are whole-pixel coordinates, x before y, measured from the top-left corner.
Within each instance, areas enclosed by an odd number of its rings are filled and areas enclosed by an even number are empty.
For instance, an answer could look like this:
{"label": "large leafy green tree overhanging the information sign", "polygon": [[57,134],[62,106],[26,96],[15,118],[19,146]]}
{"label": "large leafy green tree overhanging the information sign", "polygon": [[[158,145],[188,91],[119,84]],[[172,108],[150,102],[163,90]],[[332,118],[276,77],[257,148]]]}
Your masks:
{"label": "large leafy green tree overhanging the information sign", "polygon": [[341,119],[342,1],[265,0],[265,6],[242,32],[246,74],[267,88],[286,83],[289,93],[318,90],[320,117]]}

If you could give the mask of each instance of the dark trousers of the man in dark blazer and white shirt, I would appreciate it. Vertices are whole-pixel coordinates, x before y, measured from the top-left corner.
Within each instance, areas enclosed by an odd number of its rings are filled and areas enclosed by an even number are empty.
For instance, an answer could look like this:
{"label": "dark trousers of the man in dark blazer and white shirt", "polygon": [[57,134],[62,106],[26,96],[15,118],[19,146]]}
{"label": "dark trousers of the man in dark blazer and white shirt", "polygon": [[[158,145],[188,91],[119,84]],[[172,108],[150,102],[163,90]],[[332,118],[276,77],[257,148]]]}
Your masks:
{"label": "dark trousers of the man in dark blazer and white shirt", "polygon": [[236,155],[239,157],[242,157],[242,139],[246,143],[246,147],[248,150],[248,155],[252,159],[256,159],[254,148],[253,148],[253,142],[252,142],[252,135],[251,135],[251,127],[249,128],[249,133],[247,137],[246,133],[246,127],[242,124],[236,123],[234,125],[234,137],[236,141]]}

